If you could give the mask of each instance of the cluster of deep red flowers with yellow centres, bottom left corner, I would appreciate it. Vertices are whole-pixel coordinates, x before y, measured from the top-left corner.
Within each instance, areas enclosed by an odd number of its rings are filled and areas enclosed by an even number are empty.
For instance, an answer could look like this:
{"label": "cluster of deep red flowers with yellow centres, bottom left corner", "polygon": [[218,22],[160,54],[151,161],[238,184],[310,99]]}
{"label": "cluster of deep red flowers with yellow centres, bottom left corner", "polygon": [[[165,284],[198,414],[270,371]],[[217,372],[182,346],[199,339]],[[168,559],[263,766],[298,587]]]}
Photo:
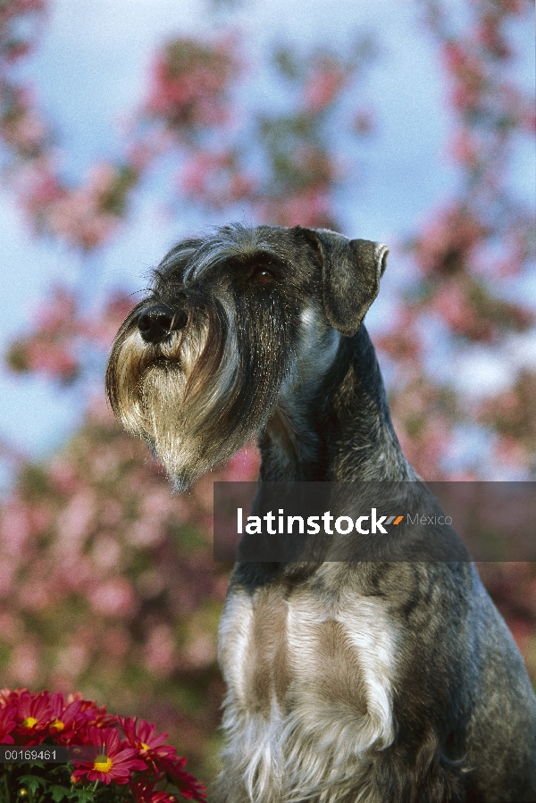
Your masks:
{"label": "cluster of deep red flowers with yellow centres, bottom left corner", "polygon": [[136,803],[172,803],[171,790],[157,789],[167,781],[183,798],[204,803],[205,787],[184,770],[186,759],[165,745],[166,739],[167,733],[157,734],[154,724],[107,714],[80,692],[65,699],[61,692],[0,690],[1,744],[105,748],[92,764],[72,762],[71,783],[129,784]]}

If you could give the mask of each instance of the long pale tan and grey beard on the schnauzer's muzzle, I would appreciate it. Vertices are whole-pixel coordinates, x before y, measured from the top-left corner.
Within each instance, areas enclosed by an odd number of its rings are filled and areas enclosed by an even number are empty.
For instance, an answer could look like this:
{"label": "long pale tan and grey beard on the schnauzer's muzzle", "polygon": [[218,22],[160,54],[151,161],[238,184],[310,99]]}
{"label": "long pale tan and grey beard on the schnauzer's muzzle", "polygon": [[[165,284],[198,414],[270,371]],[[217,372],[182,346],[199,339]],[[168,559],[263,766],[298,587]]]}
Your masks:
{"label": "long pale tan and grey beard on the schnauzer's muzzle", "polygon": [[[239,450],[266,423],[287,357],[273,353],[281,331],[240,342],[243,326],[222,305],[197,313],[197,324],[147,344],[135,327],[139,310],[116,338],[106,372],[113,411],[147,440],[175,489],[185,490]],[[272,329],[277,324],[272,317]],[[281,329],[281,322],[279,327]],[[262,367],[259,367],[262,366]]]}

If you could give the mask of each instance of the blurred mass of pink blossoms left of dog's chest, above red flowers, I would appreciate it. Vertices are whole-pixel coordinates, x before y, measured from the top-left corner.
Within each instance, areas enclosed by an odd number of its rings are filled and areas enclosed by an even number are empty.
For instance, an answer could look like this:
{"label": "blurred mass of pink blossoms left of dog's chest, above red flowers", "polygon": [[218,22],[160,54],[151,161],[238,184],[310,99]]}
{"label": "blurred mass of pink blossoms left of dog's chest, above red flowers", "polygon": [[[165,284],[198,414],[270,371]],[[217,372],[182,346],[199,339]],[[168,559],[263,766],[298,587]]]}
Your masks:
{"label": "blurred mass of pink blossoms left of dog's chest, above red flowers", "polygon": [[[250,447],[215,477],[253,479],[257,465]],[[211,670],[226,590],[207,551],[213,480],[172,497],[104,399],[63,454],[29,467],[0,512],[6,682],[63,689],[135,665],[149,685]]]}

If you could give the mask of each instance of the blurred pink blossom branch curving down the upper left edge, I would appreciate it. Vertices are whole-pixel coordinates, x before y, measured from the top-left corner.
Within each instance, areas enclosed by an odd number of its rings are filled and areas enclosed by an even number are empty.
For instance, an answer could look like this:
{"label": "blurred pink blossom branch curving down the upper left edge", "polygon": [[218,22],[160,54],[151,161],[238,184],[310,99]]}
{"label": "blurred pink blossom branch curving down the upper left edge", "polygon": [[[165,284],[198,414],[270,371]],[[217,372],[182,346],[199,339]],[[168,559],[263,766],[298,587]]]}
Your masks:
{"label": "blurred pink blossom branch curving down the upper left edge", "polygon": [[63,180],[57,137],[35,91],[13,71],[13,61],[33,44],[30,17],[40,21],[47,6],[45,0],[0,4],[0,138],[9,157],[8,175],[33,228],[87,251],[117,230],[138,168],[128,161],[97,163],[80,186]]}

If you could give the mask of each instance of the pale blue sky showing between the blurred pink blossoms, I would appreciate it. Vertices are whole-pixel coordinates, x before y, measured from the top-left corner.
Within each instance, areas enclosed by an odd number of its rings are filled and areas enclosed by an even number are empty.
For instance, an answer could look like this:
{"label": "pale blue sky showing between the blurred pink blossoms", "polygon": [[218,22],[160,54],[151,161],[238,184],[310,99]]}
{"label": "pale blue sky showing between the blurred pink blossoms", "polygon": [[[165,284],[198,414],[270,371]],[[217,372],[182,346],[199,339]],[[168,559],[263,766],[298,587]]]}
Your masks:
{"label": "pale blue sky showing between the blurred pink blossoms", "polygon": [[[448,4],[459,5],[456,0]],[[396,246],[432,205],[448,197],[456,175],[444,158],[449,130],[442,103],[446,88],[431,39],[418,23],[417,4],[400,0],[255,0],[232,15],[208,13],[196,0],[53,0],[38,54],[25,71],[61,134],[68,170],[81,174],[96,158],[120,151],[121,121],[136,108],[147,64],[164,39],[212,32],[229,22],[245,34],[254,61],[281,39],[306,50],[316,42],[344,47],[363,26],[377,34],[381,55],[364,91],[376,108],[378,131],[370,146],[358,152],[364,174],[358,196],[343,192],[339,199],[345,233]],[[517,31],[516,39],[524,54],[519,69],[525,85],[532,86],[532,26]],[[269,93],[270,78],[257,75],[247,91]],[[515,182],[525,197],[533,197],[532,151],[520,151],[517,162]],[[150,193],[139,197],[130,225],[99,257],[98,265],[93,261],[99,276],[96,294],[110,287],[143,287],[148,268],[200,222],[195,213],[170,221]],[[0,190],[0,264],[2,348],[24,330],[54,280],[80,281],[84,269],[64,247],[29,238],[6,189]],[[407,270],[393,249],[372,324],[389,314],[389,294]],[[530,289],[536,296],[536,284]],[[513,347],[512,354],[518,362],[536,361],[534,351],[527,342]],[[487,381],[497,389],[497,382],[507,381],[507,355],[482,352],[476,359],[482,387]],[[459,381],[462,368],[458,366]],[[464,370],[474,377],[474,358]],[[2,370],[0,390],[0,437],[32,455],[53,449],[79,420],[76,397],[44,381],[13,378]]]}

